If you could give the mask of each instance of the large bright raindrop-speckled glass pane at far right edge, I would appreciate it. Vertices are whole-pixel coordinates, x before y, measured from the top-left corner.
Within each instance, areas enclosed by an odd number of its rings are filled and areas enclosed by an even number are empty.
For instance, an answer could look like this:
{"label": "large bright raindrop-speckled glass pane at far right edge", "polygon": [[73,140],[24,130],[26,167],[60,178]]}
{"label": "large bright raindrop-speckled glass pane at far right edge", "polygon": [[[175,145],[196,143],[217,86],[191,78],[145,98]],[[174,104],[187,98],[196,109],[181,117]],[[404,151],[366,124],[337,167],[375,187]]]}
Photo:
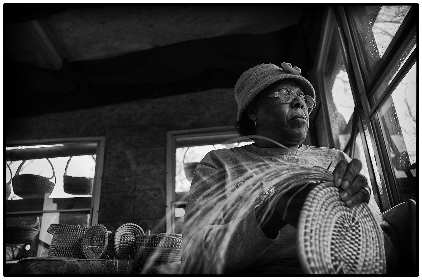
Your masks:
{"label": "large bright raindrop-speckled glass pane at far right edge", "polygon": [[400,201],[416,193],[416,64],[377,114]]}

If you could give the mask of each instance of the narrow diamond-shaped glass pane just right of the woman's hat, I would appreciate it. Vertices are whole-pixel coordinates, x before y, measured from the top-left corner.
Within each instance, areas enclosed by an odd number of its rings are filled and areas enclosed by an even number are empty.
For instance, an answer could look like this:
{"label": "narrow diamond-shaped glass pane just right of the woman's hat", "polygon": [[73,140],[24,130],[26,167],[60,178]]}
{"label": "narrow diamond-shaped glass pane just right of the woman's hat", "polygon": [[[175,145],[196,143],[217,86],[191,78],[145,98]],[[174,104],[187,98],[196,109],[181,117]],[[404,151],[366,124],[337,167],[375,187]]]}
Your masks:
{"label": "narrow diamond-shaped glass pane just right of the woman's hat", "polygon": [[335,148],[343,150],[352,131],[354,101],[337,32],[333,34],[328,53],[322,73],[325,96]]}

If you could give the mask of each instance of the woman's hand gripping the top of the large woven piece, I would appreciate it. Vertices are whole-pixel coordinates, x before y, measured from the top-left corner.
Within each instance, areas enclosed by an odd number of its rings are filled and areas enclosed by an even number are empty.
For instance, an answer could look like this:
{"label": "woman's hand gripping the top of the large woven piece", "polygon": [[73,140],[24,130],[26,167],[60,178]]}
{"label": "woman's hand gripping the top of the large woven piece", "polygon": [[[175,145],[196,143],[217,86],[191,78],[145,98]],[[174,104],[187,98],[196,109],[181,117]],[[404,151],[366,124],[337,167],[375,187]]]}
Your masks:
{"label": "woman's hand gripping the top of the large woven piece", "polygon": [[345,201],[349,207],[362,201],[368,203],[371,197],[368,180],[365,176],[359,174],[361,169],[362,163],[354,158],[350,163],[341,160],[333,171],[335,187],[341,187],[341,200]]}

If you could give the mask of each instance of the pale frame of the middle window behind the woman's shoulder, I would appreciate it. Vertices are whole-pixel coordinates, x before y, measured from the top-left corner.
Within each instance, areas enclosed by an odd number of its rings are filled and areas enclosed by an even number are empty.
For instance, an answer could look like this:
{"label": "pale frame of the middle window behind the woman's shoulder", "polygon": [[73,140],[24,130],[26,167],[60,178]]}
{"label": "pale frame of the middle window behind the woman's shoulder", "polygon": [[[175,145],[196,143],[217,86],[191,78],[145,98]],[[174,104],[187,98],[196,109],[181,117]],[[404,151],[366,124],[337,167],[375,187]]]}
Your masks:
{"label": "pale frame of the middle window behind the woman's shoulder", "polygon": [[219,144],[238,137],[233,126],[197,128],[167,132],[166,150],[166,230],[174,233],[174,209],[182,202],[176,201],[176,148]]}

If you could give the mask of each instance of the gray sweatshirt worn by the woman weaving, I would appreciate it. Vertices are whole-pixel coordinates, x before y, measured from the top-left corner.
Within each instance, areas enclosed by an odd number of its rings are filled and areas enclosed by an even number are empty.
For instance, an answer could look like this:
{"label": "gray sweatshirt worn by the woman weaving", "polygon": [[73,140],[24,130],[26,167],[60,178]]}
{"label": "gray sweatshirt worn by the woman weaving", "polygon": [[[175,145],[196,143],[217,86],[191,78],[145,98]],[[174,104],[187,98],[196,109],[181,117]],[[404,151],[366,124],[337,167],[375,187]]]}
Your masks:
{"label": "gray sweatshirt worn by the woman weaving", "polygon": [[[330,171],[341,160],[350,162],[351,159],[344,152],[333,148],[312,147],[302,145],[297,151],[286,151],[279,148],[259,148],[253,144],[232,149],[219,149],[209,152],[195,169],[189,196],[187,199],[184,221],[191,219],[194,213],[194,205],[209,200],[215,193],[227,191],[227,185],[233,184],[247,171],[253,169],[247,163],[260,163],[274,166],[274,162],[292,163],[294,165],[321,166],[327,168],[331,162]],[[294,160],[293,160],[294,159]],[[233,168],[236,166],[236,168]],[[206,179],[206,180],[204,180]],[[222,184],[224,182],[224,184]],[[239,182],[242,183],[241,181]],[[204,195],[206,194],[206,195]],[[262,194],[262,199],[268,195]],[[256,201],[256,205],[262,202]],[[206,204],[205,204],[206,205]],[[382,217],[375,200],[371,196],[369,207],[379,223]],[[201,221],[209,209],[201,211],[194,221]],[[203,264],[210,261],[210,253],[206,246],[208,232],[225,232],[230,227],[230,217],[220,214],[218,224],[210,224],[201,238],[200,244],[192,244],[190,236],[194,235],[195,222],[183,227],[182,257],[181,262],[185,267],[185,273],[203,272]],[[385,222],[384,222],[385,223]],[[225,273],[256,273],[256,274],[300,274],[303,273],[296,249],[296,228],[287,224],[279,231],[275,239],[269,239],[260,229],[255,212],[249,211],[246,217],[236,225],[236,230],[230,239],[225,259]],[[203,232],[203,231],[201,231]],[[215,235],[213,235],[215,236]],[[384,238],[388,238],[384,235]],[[387,240],[390,242],[390,240]],[[386,252],[387,253],[387,252]],[[193,263],[193,265],[192,265]],[[188,265],[189,264],[189,265]]]}

